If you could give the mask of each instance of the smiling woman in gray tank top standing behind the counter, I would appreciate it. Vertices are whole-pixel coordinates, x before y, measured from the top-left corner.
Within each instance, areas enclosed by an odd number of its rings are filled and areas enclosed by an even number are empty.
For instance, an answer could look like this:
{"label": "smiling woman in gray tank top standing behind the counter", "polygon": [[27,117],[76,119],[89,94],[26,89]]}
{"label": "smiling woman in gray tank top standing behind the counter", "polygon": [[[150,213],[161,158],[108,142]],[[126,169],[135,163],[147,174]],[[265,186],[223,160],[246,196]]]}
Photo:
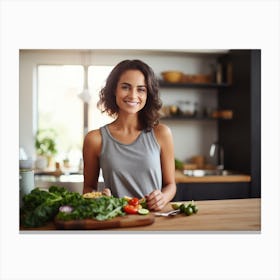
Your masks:
{"label": "smiling woman in gray tank top standing behind the counter", "polygon": [[83,146],[83,193],[97,190],[102,169],[105,194],[146,197],[161,210],[176,193],[173,138],[159,124],[161,100],[153,70],[140,60],[120,62],[100,92],[99,108],[116,119],[90,131]]}

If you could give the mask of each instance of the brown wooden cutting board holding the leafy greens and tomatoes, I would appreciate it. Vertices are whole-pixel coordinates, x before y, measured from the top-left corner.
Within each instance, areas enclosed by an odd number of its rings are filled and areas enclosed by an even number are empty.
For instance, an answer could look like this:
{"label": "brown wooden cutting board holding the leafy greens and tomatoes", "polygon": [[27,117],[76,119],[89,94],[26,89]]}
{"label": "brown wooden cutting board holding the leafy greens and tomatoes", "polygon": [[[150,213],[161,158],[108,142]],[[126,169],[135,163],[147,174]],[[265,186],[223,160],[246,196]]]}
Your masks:
{"label": "brown wooden cutting board holding the leafy greens and tomatoes", "polygon": [[154,221],[154,214],[149,213],[148,215],[126,215],[122,217],[116,217],[107,221],[97,221],[94,219],[63,221],[55,219],[54,224],[57,229],[63,230],[95,230],[145,226],[154,223]]}

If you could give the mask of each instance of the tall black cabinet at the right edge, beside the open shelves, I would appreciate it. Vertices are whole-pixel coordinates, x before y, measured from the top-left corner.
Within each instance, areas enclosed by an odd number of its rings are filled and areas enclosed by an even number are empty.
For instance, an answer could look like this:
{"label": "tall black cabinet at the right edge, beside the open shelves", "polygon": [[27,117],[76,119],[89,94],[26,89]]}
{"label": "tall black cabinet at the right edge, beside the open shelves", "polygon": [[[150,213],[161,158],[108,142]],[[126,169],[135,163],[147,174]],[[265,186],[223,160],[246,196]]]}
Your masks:
{"label": "tall black cabinet at the right edge, beside the open shelves", "polygon": [[225,168],[251,175],[249,197],[261,196],[261,51],[231,50],[220,58],[232,64],[232,86],[218,92],[218,105],[231,108],[229,122],[218,121]]}

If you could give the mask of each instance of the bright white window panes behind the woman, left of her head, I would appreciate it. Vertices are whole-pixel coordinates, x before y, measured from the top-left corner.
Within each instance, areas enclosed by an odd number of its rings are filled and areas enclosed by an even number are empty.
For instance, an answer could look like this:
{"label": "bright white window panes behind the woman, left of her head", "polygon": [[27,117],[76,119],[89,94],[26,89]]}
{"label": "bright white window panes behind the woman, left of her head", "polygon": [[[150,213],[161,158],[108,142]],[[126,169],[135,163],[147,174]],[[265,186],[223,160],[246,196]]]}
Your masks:
{"label": "bright white window panes behind the woman, left of her head", "polygon": [[[89,130],[112,121],[96,106],[99,91],[112,67],[90,66],[88,69]],[[63,163],[67,159],[72,169],[76,169],[82,159],[84,103],[79,94],[83,86],[84,67],[81,65],[38,66],[38,129],[56,131],[56,161]]]}

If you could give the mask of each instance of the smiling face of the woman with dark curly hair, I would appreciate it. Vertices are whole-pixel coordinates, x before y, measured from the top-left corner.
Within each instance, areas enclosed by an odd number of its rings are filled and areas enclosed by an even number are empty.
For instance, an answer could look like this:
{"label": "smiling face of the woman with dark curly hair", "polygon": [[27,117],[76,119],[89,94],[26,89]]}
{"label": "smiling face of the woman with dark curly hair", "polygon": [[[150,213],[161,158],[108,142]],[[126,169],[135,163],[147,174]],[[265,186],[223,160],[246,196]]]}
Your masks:
{"label": "smiling face of the woman with dark curly hair", "polygon": [[119,113],[135,114],[146,104],[147,86],[143,73],[127,70],[119,79],[116,89],[116,103]]}

